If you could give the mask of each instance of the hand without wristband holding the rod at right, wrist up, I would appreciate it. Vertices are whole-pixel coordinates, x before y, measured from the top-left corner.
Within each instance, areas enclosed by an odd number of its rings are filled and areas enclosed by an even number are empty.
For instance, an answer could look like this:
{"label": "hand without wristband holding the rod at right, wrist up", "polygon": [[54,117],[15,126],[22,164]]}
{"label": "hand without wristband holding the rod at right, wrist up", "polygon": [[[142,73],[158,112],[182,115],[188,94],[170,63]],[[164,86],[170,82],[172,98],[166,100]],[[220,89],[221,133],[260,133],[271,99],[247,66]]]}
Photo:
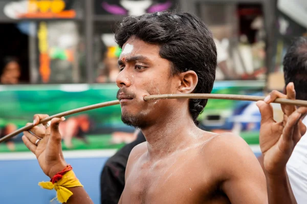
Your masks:
{"label": "hand without wristband holding the rod at right, wrist up", "polygon": [[294,105],[281,105],[283,120],[276,122],[270,105],[276,98],[295,99],[294,84],[287,85],[287,95],[273,91],[265,101],[257,102],[261,114],[260,149],[264,155],[264,168],[272,175],[286,171],[286,164],[295,145],[306,132],[301,118],[307,113],[307,107],[297,109]]}

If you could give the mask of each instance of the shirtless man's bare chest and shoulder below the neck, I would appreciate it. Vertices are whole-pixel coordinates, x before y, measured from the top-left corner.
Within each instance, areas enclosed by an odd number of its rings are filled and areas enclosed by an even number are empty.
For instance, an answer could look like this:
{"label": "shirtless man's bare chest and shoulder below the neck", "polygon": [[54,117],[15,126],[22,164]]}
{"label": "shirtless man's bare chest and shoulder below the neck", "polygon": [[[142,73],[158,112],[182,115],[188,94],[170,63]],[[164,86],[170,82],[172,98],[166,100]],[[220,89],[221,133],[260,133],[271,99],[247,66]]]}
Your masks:
{"label": "shirtless man's bare chest and shoulder below the neck", "polygon": [[[145,142],[133,149],[127,165],[120,203],[248,203],[255,193],[258,198],[249,203],[265,203],[261,167],[248,145],[231,134],[205,132],[192,144],[155,160],[148,156]],[[239,196],[249,186],[264,191],[248,190]],[[231,198],[225,193],[229,188],[237,188]]]}

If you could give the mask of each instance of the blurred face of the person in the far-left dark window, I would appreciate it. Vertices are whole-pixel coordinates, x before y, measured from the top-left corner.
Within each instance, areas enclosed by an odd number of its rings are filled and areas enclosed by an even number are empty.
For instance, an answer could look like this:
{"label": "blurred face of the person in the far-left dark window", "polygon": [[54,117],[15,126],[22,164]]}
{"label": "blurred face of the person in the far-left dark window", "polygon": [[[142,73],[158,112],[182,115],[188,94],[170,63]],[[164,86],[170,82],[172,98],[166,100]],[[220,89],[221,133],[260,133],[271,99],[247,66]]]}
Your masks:
{"label": "blurred face of the person in the far-left dark window", "polygon": [[2,84],[17,84],[20,77],[20,66],[18,62],[11,61],[7,63],[1,75]]}

